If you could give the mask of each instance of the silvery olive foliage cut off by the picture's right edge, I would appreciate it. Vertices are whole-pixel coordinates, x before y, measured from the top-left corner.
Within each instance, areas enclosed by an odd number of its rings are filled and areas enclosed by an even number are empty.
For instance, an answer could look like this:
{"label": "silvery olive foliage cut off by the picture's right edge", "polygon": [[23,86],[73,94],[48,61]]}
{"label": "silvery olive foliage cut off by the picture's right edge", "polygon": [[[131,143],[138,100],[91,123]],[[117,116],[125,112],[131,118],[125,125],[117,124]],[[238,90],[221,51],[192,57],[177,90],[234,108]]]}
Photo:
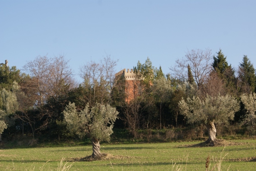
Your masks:
{"label": "silvery olive foliage cut off by the picture's right edge", "polygon": [[244,104],[244,108],[247,110],[246,121],[256,120],[256,93],[242,94],[241,101]]}

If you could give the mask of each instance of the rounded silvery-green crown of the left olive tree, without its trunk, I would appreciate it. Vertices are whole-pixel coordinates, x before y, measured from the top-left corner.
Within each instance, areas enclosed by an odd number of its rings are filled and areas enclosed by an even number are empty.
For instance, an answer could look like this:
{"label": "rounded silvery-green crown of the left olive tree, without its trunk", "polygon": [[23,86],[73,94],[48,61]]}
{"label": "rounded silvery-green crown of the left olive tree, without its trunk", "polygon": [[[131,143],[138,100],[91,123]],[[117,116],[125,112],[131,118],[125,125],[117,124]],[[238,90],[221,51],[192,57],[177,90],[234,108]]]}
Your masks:
{"label": "rounded silvery-green crown of the left olive tree, without its trunk", "polygon": [[118,112],[109,104],[96,103],[92,108],[87,104],[77,112],[74,103],[69,103],[63,111],[68,130],[83,138],[88,135],[100,141],[110,140]]}

